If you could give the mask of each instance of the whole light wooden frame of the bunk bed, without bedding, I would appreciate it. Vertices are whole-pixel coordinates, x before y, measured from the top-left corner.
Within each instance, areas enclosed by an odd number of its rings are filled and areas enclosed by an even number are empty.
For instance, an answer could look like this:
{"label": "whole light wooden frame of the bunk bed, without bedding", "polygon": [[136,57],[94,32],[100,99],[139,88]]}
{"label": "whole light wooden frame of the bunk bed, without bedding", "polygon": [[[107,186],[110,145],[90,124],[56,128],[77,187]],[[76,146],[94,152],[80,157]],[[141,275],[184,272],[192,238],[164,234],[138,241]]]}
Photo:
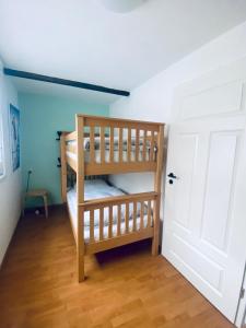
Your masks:
{"label": "whole light wooden frame of the bunk bed, without bedding", "polygon": [[[99,128],[101,131],[101,142],[106,138],[104,134],[105,129],[109,128],[109,162],[105,163],[104,160],[101,163],[95,163],[95,127]],[[85,163],[84,157],[84,137],[85,130],[90,129],[90,161]],[[103,129],[102,129],[103,128]],[[119,139],[118,142],[118,150],[119,150],[119,162],[114,162],[114,151],[115,151],[115,129],[119,130]],[[127,131],[127,161],[122,162],[121,155],[124,150],[124,141],[122,141],[122,129]],[[132,139],[131,131],[134,130],[134,139]],[[103,134],[102,134],[103,131]],[[148,131],[151,132],[151,149],[150,149],[150,159],[149,161],[144,160],[139,162],[139,147],[140,147],[140,131],[143,131],[144,134],[144,145],[147,144],[147,134]],[[63,133],[62,133],[63,134]],[[62,136],[61,134],[61,136]],[[78,198],[78,207],[77,207],[77,260],[78,260],[78,281],[81,282],[84,280],[84,255],[85,254],[93,254],[98,253],[102,250],[110,249],[113,247],[122,246],[129,243],[139,242],[144,238],[152,237],[152,254],[157,255],[159,248],[159,225],[160,225],[160,197],[161,197],[161,168],[162,168],[162,161],[163,161],[163,134],[164,134],[164,124],[156,124],[156,122],[145,122],[145,121],[134,121],[134,120],[122,120],[122,119],[115,119],[108,117],[96,117],[96,116],[84,116],[84,115],[77,115],[75,116],[75,133],[66,133],[65,136],[65,143],[67,156],[65,161],[61,161],[61,165],[70,165],[77,172],[77,198]],[[155,148],[155,136],[157,140],[157,156],[154,157],[154,148]],[[71,145],[69,141],[75,140],[75,147]],[[134,161],[131,159],[131,145],[132,141],[134,140],[134,148],[136,148],[136,157]],[[102,145],[105,145],[105,140],[102,142]],[[72,152],[77,156],[77,161],[72,160],[68,156],[68,151]],[[105,153],[103,154],[105,155]],[[101,159],[102,159],[102,149],[101,149]],[[67,160],[67,164],[66,164]],[[63,169],[63,168],[62,168]],[[104,174],[117,174],[117,173],[130,173],[130,172],[155,172],[155,191],[157,190],[157,197],[154,201],[153,208],[153,227],[143,227],[143,201],[154,200],[150,197],[150,192],[147,199],[143,199],[142,196],[139,198],[137,195],[138,201],[141,203],[141,222],[140,222],[140,230],[136,230],[136,215],[133,222],[133,233],[129,232],[129,202],[118,202],[118,197],[107,198],[106,201],[108,202],[109,208],[109,224],[108,224],[108,238],[107,241],[99,239],[98,242],[94,243],[94,216],[92,216],[91,212],[91,224],[90,224],[90,243],[85,246],[83,241],[83,220],[84,220],[84,211],[86,208],[90,207],[89,210],[99,209],[105,207],[105,200],[97,199],[94,203],[85,202],[84,200],[84,176],[86,175],[104,175]],[[62,190],[65,190],[65,181],[61,179]],[[67,188],[66,188],[67,189]],[[130,196],[131,200],[133,195]],[[116,202],[117,201],[117,202]],[[136,199],[137,201],[137,199]],[[113,204],[121,204],[126,206],[126,218],[125,218],[125,229],[126,233],[124,236],[119,235],[119,226],[117,236],[113,236]],[[70,213],[71,214],[71,213]],[[102,219],[102,218],[101,218]],[[73,220],[70,220],[73,224]],[[101,220],[102,221],[102,220]],[[72,227],[74,234],[74,226]],[[74,234],[75,235],[75,234]],[[101,233],[102,236],[102,225],[101,225]]]}

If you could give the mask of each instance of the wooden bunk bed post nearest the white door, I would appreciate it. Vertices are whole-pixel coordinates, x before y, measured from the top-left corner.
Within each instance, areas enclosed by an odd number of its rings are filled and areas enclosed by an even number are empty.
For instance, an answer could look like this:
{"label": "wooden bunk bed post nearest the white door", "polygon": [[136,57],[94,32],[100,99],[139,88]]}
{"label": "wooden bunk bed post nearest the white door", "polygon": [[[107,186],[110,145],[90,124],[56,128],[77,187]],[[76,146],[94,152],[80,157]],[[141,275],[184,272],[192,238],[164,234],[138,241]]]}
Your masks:
{"label": "wooden bunk bed post nearest the white door", "polygon": [[161,189],[162,189],[162,171],[163,171],[163,145],[164,145],[164,125],[160,125],[157,136],[157,159],[156,171],[154,174],[154,191],[157,192],[156,200],[154,201],[154,236],[152,239],[152,255],[159,254],[160,241],[160,208],[161,208]]}

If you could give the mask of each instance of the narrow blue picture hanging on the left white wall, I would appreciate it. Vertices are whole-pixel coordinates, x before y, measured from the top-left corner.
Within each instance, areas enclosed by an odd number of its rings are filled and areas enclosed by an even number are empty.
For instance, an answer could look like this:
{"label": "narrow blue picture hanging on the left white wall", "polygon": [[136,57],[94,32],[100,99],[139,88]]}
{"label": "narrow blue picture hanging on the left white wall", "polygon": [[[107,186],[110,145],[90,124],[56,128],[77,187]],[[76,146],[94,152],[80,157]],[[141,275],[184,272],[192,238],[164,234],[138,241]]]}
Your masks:
{"label": "narrow blue picture hanging on the left white wall", "polygon": [[20,110],[10,104],[10,138],[13,172],[20,167]]}

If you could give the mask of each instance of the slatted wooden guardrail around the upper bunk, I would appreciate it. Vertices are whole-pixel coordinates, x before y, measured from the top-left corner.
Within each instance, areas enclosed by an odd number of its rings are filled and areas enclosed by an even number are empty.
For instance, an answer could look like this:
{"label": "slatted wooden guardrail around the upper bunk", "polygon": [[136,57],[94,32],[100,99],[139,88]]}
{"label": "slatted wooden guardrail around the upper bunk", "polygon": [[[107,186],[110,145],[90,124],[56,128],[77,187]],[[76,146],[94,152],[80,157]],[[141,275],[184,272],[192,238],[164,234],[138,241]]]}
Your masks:
{"label": "slatted wooden guardrail around the upper bunk", "polygon": [[83,131],[66,136],[67,162],[74,171],[78,133],[83,134],[85,175],[156,169],[160,124],[80,115],[78,120],[83,120]]}

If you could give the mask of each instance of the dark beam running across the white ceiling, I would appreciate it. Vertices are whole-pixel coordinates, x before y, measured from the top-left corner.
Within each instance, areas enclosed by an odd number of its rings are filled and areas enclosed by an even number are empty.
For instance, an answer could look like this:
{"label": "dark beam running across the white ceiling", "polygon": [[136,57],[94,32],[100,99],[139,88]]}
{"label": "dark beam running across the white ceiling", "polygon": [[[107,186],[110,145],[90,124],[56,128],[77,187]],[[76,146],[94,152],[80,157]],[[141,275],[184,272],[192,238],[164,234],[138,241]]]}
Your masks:
{"label": "dark beam running across the white ceiling", "polygon": [[95,85],[95,84],[83,83],[83,82],[78,82],[78,81],[40,75],[40,74],[35,74],[35,73],[30,73],[30,72],[24,72],[24,71],[17,71],[17,70],[9,69],[9,68],[4,68],[3,72],[5,75],[10,75],[10,77],[16,77],[16,78],[23,78],[23,79],[28,79],[28,80],[43,81],[43,82],[48,82],[48,83],[86,89],[86,90],[92,90],[92,91],[97,91],[97,92],[116,94],[116,95],[120,95],[120,96],[125,96],[125,97],[128,97],[130,95],[129,91],[110,89],[110,87],[106,87],[106,86],[102,86],[102,85]]}

